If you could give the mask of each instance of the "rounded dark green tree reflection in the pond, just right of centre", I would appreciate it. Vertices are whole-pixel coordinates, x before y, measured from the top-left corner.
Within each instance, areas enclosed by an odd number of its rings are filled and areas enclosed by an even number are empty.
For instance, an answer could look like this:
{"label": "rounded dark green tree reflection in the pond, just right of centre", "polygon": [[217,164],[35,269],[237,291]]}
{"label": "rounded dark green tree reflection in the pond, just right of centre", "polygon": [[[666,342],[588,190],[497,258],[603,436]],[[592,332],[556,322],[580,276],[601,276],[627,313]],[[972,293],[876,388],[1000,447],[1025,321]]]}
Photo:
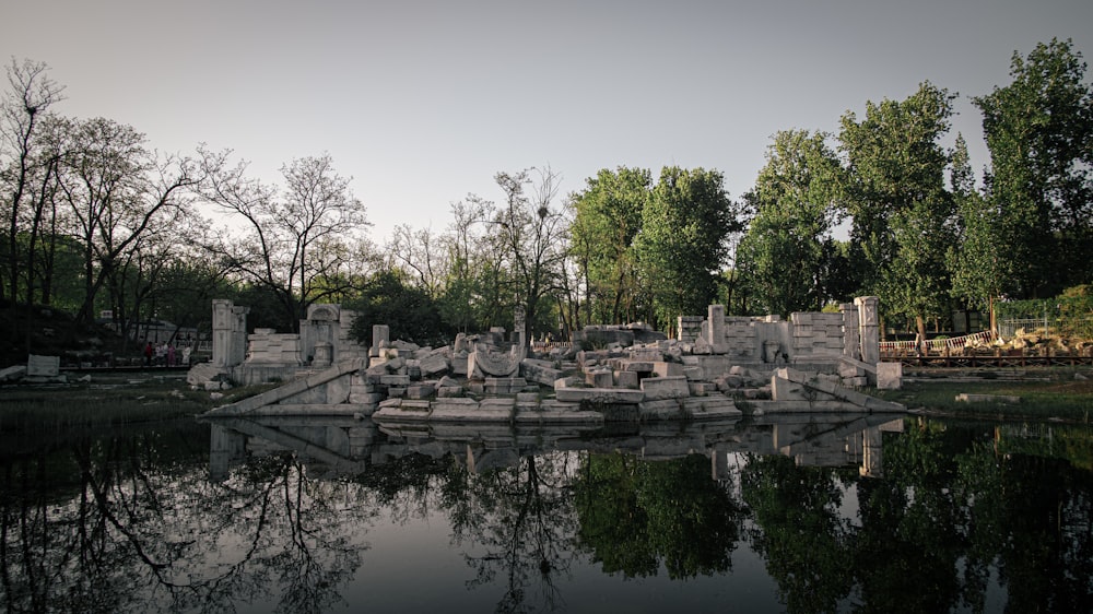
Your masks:
{"label": "rounded dark green tree reflection in the pond, just right of centre", "polygon": [[579,543],[609,574],[672,579],[724,572],[742,513],[709,474],[709,458],[643,461],[590,454],[574,485]]}

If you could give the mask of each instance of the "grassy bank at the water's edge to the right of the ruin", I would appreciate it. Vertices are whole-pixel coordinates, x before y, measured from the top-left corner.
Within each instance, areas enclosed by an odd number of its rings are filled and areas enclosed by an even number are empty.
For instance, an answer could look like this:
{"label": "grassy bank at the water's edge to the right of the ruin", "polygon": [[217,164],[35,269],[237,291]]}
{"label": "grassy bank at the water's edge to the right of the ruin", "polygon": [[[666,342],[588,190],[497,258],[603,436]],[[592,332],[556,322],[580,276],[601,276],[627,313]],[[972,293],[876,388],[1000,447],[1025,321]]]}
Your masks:
{"label": "grassy bank at the water's edge to the right of the ruin", "polygon": [[[922,375],[922,374],[913,374]],[[1093,418],[1093,374],[1089,369],[1044,368],[1026,370],[1020,377],[998,377],[990,371],[974,378],[954,374],[926,374],[905,381],[901,390],[879,390],[877,397],[905,404],[908,409],[957,417],[1004,420],[1057,420],[1090,424]],[[1016,397],[1006,400],[963,402],[961,393]]]}

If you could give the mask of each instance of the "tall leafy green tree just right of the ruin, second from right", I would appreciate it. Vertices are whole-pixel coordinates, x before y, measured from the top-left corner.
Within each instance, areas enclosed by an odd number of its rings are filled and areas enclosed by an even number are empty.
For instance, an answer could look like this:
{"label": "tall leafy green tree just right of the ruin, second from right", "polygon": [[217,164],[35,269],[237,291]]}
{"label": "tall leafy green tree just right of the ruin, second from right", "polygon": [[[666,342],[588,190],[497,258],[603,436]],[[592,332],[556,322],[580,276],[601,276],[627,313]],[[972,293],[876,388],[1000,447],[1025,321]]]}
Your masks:
{"label": "tall leafy green tree just right of the ruin, second from right", "polygon": [[851,239],[869,264],[866,292],[890,315],[926,320],[948,311],[945,253],[953,241],[953,199],[945,190],[949,153],[939,144],[955,96],[929,82],[903,102],[866,105],[866,117],[842,119],[849,163]]}

